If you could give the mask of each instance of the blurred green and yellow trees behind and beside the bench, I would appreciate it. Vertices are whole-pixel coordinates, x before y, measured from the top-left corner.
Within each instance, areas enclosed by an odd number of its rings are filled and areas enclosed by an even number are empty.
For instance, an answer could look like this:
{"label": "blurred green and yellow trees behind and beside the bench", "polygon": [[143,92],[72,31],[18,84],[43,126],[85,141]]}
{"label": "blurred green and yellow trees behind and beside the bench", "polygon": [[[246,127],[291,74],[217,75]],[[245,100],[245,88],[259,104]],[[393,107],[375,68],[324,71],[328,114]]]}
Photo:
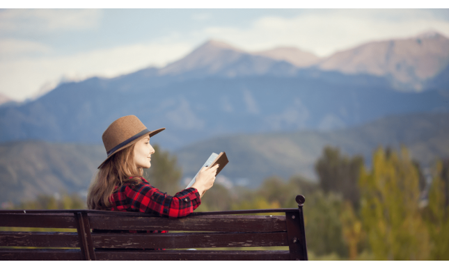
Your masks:
{"label": "blurred green and yellow trees behind and beside the bench", "polygon": [[[362,156],[345,156],[328,146],[315,172],[317,183],[300,175],[269,177],[256,189],[216,183],[197,211],[292,208],[301,194],[310,260],[449,259],[449,159],[437,159],[426,177],[404,146],[378,147],[370,168]],[[157,145],[144,177],[170,195],[182,190],[177,157]],[[63,193],[8,207],[85,209],[86,201]]]}

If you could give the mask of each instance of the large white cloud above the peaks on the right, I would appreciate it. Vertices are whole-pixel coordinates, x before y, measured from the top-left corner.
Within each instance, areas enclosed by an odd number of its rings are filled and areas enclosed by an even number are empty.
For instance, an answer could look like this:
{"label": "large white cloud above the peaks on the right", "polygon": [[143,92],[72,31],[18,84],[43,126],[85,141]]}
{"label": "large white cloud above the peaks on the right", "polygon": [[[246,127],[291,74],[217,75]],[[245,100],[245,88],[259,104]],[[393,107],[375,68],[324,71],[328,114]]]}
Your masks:
{"label": "large white cloud above the peaks on the right", "polygon": [[409,38],[429,30],[449,36],[449,22],[407,10],[324,10],[292,18],[262,17],[247,28],[210,26],[203,33],[249,51],[282,44],[329,56],[371,40]]}

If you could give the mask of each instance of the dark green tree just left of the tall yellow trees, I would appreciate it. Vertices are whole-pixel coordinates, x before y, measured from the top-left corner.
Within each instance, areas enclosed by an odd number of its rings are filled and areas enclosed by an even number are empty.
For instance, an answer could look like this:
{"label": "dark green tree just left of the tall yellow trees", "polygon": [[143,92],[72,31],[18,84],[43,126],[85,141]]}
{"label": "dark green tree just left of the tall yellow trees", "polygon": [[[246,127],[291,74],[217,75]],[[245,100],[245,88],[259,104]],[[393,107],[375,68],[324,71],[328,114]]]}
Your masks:
{"label": "dark green tree just left of the tall yellow trees", "polygon": [[315,172],[320,180],[320,186],[325,193],[333,191],[341,193],[345,199],[359,207],[359,180],[360,169],[363,166],[363,157],[342,156],[340,149],[324,147],[322,156],[315,163]]}

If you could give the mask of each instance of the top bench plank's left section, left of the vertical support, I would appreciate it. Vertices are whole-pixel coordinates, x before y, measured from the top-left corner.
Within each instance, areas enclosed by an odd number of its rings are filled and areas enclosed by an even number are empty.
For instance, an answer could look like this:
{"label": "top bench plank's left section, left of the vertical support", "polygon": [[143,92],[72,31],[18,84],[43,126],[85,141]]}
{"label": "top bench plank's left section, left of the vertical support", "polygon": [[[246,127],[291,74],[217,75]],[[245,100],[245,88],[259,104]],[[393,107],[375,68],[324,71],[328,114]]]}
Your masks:
{"label": "top bench plank's left section, left of the vertical support", "polygon": [[76,228],[73,214],[0,213],[0,227]]}

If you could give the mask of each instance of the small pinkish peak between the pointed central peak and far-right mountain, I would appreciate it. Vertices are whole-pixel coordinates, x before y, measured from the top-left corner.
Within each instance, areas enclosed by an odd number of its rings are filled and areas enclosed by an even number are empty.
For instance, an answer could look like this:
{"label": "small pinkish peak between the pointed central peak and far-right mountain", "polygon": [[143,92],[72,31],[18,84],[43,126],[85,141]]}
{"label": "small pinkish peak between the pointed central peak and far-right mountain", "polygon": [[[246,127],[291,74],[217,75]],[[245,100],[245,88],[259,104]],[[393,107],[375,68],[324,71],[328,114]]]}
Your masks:
{"label": "small pinkish peak between the pointed central peak and far-right mountain", "polygon": [[295,47],[277,47],[266,51],[253,52],[254,55],[265,56],[274,60],[285,60],[296,67],[310,67],[318,63],[320,58],[307,51]]}

